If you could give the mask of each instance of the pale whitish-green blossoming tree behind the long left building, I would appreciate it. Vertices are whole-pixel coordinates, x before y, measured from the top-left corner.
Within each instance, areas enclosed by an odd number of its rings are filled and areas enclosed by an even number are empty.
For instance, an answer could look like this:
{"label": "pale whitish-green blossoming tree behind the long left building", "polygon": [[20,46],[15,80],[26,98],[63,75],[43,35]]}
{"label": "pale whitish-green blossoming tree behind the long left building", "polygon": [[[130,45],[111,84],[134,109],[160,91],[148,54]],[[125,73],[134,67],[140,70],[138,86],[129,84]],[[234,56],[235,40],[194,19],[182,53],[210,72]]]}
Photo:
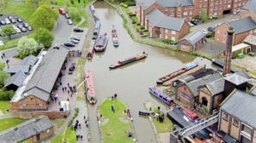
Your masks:
{"label": "pale whitish-green blossoming tree behind the long left building", "polygon": [[20,56],[35,54],[38,51],[38,43],[33,38],[21,37],[18,42],[18,51]]}

